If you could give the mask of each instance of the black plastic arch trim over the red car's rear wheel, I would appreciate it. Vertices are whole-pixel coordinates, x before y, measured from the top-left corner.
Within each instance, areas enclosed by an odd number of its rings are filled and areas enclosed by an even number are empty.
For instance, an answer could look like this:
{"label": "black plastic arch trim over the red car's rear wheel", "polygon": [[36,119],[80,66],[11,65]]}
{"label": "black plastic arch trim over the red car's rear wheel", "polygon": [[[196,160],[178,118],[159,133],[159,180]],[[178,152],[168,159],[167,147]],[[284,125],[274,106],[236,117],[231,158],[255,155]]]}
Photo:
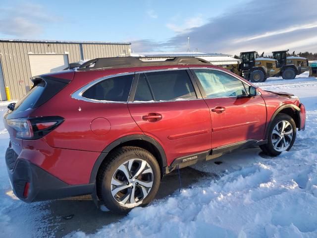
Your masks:
{"label": "black plastic arch trim over the red car's rear wheel", "polygon": [[[151,143],[159,151],[159,155],[160,155],[160,159],[161,159],[161,163],[162,163],[163,168],[167,167],[167,160],[166,160],[165,151],[156,139],[152,138],[151,136],[144,135],[144,134],[127,135],[127,136],[121,137],[121,138],[113,141],[101,152],[101,154],[98,156],[98,158],[94,164],[94,167],[93,167],[91,175],[90,175],[89,182],[94,183],[96,181],[98,170],[99,170],[101,164],[103,163],[103,161],[106,159],[107,154],[112,149],[114,149],[115,147],[117,147],[120,144],[123,144],[123,143],[128,142],[128,141],[132,141],[132,140],[143,140],[143,141],[147,141],[147,142]],[[157,159],[159,159],[159,158],[157,158]],[[161,168],[161,169],[163,170],[163,168]]]}

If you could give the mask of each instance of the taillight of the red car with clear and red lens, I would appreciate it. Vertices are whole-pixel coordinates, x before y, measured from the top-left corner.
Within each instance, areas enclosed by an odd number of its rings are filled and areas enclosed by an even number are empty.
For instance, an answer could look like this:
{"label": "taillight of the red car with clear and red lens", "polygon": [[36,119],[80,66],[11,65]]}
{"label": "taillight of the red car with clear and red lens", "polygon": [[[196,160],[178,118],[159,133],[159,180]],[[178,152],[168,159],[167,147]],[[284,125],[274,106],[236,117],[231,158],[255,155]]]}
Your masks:
{"label": "taillight of the red car with clear and red lens", "polygon": [[39,139],[64,121],[61,117],[7,119],[7,124],[16,130],[16,137],[26,140]]}

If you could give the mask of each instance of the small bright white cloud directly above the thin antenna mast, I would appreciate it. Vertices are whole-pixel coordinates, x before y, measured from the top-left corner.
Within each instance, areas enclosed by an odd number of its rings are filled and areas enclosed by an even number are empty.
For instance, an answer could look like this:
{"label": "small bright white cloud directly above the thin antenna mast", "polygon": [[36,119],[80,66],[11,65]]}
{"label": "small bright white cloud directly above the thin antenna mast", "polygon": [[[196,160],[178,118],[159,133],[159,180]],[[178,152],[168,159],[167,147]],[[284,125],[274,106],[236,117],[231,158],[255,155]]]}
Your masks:
{"label": "small bright white cloud directly above the thin antenna mast", "polygon": [[[173,17],[174,21],[179,18],[179,15]],[[167,23],[166,27],[171,29],[172,31],[176,33],[188,33],[192,30],[192,28],[200,27],[204,25],[205,21],[201,14],[198,16],[190,17],[184,20],[183,24],[176,25],[174,23]]]}

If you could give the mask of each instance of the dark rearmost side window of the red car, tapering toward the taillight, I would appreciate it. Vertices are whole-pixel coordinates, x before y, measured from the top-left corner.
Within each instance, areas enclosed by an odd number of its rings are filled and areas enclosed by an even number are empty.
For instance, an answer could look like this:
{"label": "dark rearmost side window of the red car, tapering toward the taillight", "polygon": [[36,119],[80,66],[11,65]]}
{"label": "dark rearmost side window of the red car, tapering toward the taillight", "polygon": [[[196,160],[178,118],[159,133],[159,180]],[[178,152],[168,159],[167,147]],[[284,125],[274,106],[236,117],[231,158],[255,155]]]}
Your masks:
{"label": "dark rearmost side window of the red car, tapering toward the taillight", "polygon": [[82,96],[99,101],[127,102],[132,80],[133,74],[107,78],[88,88]]}

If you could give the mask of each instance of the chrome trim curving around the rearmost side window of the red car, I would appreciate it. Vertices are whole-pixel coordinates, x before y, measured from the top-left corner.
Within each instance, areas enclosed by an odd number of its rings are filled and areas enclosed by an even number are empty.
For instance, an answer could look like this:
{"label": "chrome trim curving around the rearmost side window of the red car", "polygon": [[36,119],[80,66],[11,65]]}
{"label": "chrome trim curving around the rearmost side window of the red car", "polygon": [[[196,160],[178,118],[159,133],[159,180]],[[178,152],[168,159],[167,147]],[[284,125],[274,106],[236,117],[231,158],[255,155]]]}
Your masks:
{"label": "chrome trim curving around the rearmost side window of the red car", "polygon": [[[119,77],[119,76],[124,76],[124,75],[130,75],[130,74],[135,74],[135,72],[125,72],[125,73],[117,73],[117,74],[111,74],[105,77],[101,77],[98,79],[95,79],[94,81],[91,81],[90,83],[86,84],[85,86],[81,87],[80,89],[76,90],[74,93],[71,94],[71,98],[76,99],[76,100],[80,100],[80,101],[85,101],[85,102],[90,102],[90,103],[123,103],[126,104],[128,101],[125,102],[115,102],[115,101],[107,101],[107,100],[97,100],[97,99],[89,99],[89,98],[85,98],[83,97],[83,93],[89,89],[90,87],[94,86],[95,84],[104,81],[106,79],[109,78],[114,78],[114,77]],[[132,84],[131,84],[131,88],[132,88]],[[130,88],[130,92],[129,92],[129,96],[131,93],[131,88]],[[129,99],[129,97],[128,97]]]}

